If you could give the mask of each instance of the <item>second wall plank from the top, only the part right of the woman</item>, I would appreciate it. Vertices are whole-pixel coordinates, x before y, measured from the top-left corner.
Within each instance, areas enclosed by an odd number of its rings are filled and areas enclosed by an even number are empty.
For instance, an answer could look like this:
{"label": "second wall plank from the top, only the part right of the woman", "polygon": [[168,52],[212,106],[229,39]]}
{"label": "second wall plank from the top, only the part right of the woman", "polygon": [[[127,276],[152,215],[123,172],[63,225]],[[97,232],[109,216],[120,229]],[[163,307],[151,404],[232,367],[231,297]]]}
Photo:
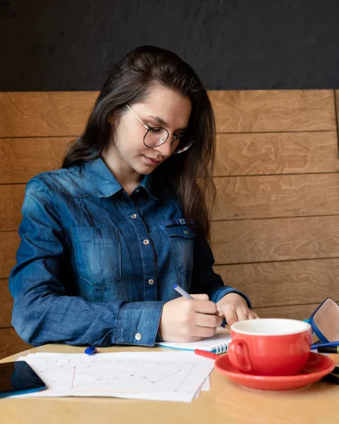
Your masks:
{"label": "second wall plank from the top, only the part right of the woman", "polygon": [[338,170],[336,131],[217,135],[214,176]]}

